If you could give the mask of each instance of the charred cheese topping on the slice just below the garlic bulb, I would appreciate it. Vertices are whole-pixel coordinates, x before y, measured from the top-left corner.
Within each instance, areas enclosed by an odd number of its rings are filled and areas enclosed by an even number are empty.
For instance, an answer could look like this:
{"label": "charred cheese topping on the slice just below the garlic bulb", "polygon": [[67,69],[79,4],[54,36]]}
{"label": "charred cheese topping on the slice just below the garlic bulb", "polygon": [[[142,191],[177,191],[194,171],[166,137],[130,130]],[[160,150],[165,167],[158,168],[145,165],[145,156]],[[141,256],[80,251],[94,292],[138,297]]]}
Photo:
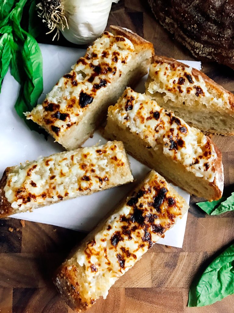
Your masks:
{"label": "charred cheese topping on the slice just below the garlic bulb", "polygon": [[84,57],[64,75],[27,118],[43,125],[53,136],[59,137],[72,125],[78,124],[86,110],[92,108],[95,96],[122,73],[134,55],[134,45],[123,36],[105,32]]}

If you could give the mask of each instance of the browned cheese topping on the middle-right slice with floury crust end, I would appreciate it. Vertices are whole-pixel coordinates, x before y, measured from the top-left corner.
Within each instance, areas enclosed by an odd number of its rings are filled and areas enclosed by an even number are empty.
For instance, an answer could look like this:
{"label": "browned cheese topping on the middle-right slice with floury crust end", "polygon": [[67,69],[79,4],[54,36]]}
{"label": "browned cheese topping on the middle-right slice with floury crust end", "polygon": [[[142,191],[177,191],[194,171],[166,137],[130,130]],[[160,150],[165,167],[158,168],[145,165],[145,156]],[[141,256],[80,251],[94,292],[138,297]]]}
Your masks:
{"label": "browned cheese topping on the middle-right slice with floury crust end", "polygon": [[149,146],[154,149],[163,146],[164,155],[180,162],[197,177],[213,182],[217,158],[214,146],[201,131],[188,126],[173,112],[128,88],[122,99],[109,107],[108,115],[111,114],[131,132],[139,134]]}

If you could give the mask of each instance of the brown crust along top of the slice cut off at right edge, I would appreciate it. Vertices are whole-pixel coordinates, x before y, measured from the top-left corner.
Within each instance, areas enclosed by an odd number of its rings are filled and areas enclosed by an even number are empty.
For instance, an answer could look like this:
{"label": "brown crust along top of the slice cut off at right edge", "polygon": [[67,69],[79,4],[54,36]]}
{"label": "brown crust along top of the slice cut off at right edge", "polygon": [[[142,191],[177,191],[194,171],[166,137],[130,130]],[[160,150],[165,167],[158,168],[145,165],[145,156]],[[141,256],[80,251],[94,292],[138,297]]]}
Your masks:
{"label": "brown crust along top of the slice cut off at right edge", "polygon": [[[189,68],[187,64],[184,64],[182,62],[179,62],[173,58],[167,58],[165,56],[158,56],[154,55],[153,58],[153,63],[158,63],[158,62],[163,62],[163,63],[168,63],[168,64],[175,64],[176,66],[182,66],[185,68]],[[218,94],[226,93],[228,94],[228,100],[230,104],[230,109],[223,107],[223,111],[231,116],[234,116],[234,95],[223,88],[221,85],[217,84],[215,81],[213,81],[211,78],[209,78],[206,74],[202,73],[198,69],[192,69],[192,74],[196,77],[201,76],[202,79],[205,81],[205,83],[213,90],[215,90]],[[234,135],[234,133],[230,133],[229,135]]]}

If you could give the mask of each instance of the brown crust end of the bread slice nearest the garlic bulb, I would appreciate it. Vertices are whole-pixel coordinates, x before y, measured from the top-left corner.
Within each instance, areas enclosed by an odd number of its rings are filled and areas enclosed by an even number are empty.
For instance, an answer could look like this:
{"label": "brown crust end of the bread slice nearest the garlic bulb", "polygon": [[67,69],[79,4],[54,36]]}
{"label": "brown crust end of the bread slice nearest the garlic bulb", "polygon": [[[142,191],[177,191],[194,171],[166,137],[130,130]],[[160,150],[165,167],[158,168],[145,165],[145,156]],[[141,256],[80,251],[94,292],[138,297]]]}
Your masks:
{"label": "brown crust end of the bread slice nearest the garlic bulb", "polygon": [[135,48],[139,48],[139,50],[141,50],[142,47],[144,47],[144,49],[152,50],[153,57],[154,57],[154,45],[151,42],[140,37],[138,34],[132,32],[128,28],[110,25],[110,29],[114,35],[124,36],[125,38],[129,39],[134,44]]}

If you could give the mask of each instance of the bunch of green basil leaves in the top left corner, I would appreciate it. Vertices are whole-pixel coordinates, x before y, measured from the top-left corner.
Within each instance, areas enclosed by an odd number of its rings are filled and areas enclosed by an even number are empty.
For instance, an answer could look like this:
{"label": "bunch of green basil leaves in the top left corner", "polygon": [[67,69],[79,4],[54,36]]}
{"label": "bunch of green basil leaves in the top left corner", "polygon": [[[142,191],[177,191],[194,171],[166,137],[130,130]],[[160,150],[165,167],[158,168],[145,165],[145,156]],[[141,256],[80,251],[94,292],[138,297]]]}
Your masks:
{"label": "bunch of green basil leaves in the top left corner", "polygon": [[[23,118],[30,129],[45,133],[36,123],[26,120],[24,112],[31,111],[43,91],[42,55],[37,41],[22,29],[20,23],[22,11],[30,11],[30,29],[36,35],[33,26],[33,14],[36,11],[34,0],[2,0],[0,3],[0,87],[10,64],[11,74],[21,85],[18,99],[15,103],[17,114]],[[3,4],[8,1],[7,6]],[[3,34],[1,36],[1,33]]]}

